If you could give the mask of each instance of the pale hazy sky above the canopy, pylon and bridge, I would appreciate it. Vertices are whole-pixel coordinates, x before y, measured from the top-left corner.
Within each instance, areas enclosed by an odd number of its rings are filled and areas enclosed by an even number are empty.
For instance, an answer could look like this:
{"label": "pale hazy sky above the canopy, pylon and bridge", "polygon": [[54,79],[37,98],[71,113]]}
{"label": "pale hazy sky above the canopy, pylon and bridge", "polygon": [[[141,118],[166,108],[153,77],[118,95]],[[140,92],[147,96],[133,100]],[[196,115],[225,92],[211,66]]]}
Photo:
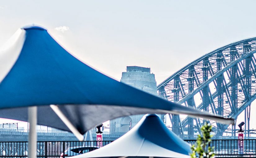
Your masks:
{"label": "pale hazy sky above the canopy, pylon and bridge", "polygon": [[[93,68],[120,80],[151,67],[157,84],[194,59],[256,35],[256,1],[0,0],[0,46],[39,24]],[[256,119],[256,117],[255,117]]]}

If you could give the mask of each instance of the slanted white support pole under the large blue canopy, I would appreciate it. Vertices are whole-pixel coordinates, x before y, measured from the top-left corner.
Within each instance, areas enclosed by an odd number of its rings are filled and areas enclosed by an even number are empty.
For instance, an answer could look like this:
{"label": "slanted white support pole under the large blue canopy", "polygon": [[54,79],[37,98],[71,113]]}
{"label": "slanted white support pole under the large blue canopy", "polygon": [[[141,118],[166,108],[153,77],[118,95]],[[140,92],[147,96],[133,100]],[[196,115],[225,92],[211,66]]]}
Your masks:
{"label": "slanted white support pole under the large blue canopy", "polygon": [[57,105],[50,105],[52,110],[60,117],[60,119],[65,123],[65,125],[70,129],[70,131],[76,136],[79,141],[83,141],[83,135],[75,128],[75,126],[69,121],[69,119],[63,114],[61,109]]}

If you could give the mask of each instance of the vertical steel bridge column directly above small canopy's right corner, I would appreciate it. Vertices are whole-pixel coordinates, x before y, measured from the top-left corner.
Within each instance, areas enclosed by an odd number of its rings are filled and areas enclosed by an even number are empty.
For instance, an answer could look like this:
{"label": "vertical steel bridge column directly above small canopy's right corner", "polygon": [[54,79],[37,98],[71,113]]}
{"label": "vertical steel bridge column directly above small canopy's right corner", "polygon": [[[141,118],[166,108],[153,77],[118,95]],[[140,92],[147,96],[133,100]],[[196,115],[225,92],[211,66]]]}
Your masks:
{"label": "vertical steel bridge column directly above small canopy's right corner", "polygon": [[[188,71],[188,93],[191,93],[194,90],[194,65],[190,66]],[[194,96],[188,99],[187,104],[192,108],[194,107]],[[189,139],[194,138],[194,119],[191,117],[188,117],[187,134]]]}

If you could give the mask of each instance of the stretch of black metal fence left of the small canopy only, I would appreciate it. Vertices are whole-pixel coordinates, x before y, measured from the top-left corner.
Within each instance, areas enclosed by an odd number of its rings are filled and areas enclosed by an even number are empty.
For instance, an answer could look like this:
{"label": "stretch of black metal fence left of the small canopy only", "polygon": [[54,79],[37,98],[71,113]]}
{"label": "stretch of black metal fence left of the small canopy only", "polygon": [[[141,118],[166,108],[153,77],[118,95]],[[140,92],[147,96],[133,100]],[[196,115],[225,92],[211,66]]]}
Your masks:
{"label": "stretch of black metal fence left of the small canopy only", "polygon": [[[83,154],[112,141],[46,141],[37,142],[38,158],[60,158]],[[65,152],[63,152],[65,151]],[[0,142],[0,157],[26,158],[28,156],[28,142]]]}

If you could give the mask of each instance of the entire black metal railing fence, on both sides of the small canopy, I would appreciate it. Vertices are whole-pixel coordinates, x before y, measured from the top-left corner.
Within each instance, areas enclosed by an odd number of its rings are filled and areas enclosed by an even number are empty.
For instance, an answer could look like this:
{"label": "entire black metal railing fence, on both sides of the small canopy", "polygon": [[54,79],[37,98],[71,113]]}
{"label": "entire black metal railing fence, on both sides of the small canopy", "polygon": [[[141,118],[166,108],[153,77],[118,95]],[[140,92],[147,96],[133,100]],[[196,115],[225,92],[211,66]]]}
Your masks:
{"label": "entire black metal railing fence, on both sides of the small canopy", "polygon": [[[195,144],[196,140],[185,140]],[[238,139],[212,140],[215,157],[256,157],[256,139],[245,139],[243,154],[239,153]],[[61,158],[83,154],[111,143],[112,141],[47,141],[37,143],[38,158]],[[65,152],[63,152],[65,151]],[[28,142],[0,142],[0,157],[27,157]]]}

